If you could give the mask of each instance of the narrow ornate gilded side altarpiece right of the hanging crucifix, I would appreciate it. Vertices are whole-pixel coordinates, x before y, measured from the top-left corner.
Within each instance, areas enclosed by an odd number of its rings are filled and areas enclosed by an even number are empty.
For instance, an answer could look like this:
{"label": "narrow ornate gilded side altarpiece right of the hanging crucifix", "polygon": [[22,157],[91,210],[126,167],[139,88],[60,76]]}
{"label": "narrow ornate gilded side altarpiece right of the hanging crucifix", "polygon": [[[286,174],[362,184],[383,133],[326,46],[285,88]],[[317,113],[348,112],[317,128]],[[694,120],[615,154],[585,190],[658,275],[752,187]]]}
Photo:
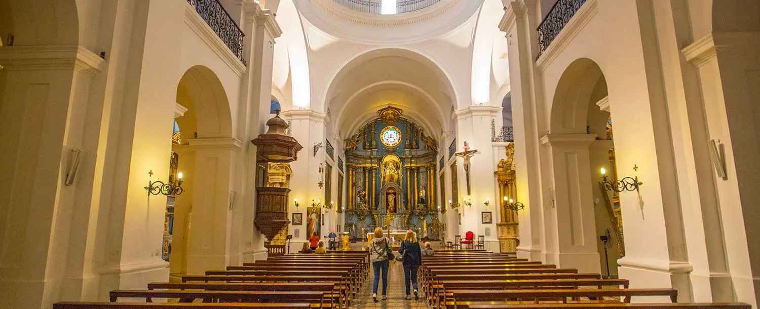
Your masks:
{"label": "narrow ornate gilded side altarpiece right of the hanging crucifix", "polygon": [[515,190],[516,173],[512,169],[512,160],[515,153],[515,143],[509,143],[505,147],[507,159],[499,160],[498,169],[493,172],[496,175],[496,181],[499,182],[499,205],[501,206],[502,215],[499,216],[500,222],[496,223],[499,232],[499,249],[504,252],[517,252],[518,246],[518,222],[515,216],[515,210],[506,207],[506,200],[517,200],[517,191]]}

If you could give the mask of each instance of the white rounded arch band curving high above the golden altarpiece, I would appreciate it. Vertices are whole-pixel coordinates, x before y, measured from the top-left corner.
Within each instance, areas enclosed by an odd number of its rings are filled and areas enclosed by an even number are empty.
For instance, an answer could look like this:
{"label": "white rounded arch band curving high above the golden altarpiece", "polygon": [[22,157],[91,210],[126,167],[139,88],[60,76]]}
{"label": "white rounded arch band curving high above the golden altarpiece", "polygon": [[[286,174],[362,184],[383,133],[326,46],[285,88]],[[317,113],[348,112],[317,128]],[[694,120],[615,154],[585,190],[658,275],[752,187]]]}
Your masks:
{"label": "white rounded arch band curving high above the golden altarpiece", "polygon": [[372,60],[373,58],[388,56],[408,58],[420,63],[421,65],[424,65],[429,69],[429,71],[438,77],[438,81],[445,89],[445,96],[451,98],[451,102],[459,102],[458,98],[460,95],[458,94],[456,88],[454,88],[454,82],[451,78],[451,74],[449,74],[445,66],[443,66],[439,61],[436,61],[435,58],[432,58],[431,56],[426,55],[424,52],[420,52],[419,50],[410,49],[407,47],[375,47],[372,49],[363,50],[361,52],[356,52],[353,55],[347,57],[346,61],[336,66],[334,71],[331,72],[330,76],[327,79],[327,87],[324,88],[325,93],[322,97],[325,99],[321,102],[323,102],[325,106],[315,106],[316,109],[325,111],[328,109],[328,106],[326,105],[328,105],[328,103],[331,102],[331,99],[334,97],[336,92],[335,90],[340,84],[340,81],[343,79],[341,77],[345,77],[346,74],[348,74],[359,65],[362,65],[366,61]]}

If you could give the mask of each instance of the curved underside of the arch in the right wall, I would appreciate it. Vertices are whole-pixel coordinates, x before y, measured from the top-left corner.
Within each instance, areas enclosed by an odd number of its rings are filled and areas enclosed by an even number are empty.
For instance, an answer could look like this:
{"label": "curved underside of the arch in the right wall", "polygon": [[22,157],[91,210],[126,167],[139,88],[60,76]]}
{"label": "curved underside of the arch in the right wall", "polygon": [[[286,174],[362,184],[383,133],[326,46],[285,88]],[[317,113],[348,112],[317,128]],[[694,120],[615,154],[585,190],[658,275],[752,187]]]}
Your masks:
{"label": "curved underside of the arch in the right wall", "polygon": [[[553,134],[584,134],[589,102],[606,96],[601,68],[589,58],[572,61],[559,78],[552,102],[549,129]],[[596,102],[596,101],[594,101]]]}

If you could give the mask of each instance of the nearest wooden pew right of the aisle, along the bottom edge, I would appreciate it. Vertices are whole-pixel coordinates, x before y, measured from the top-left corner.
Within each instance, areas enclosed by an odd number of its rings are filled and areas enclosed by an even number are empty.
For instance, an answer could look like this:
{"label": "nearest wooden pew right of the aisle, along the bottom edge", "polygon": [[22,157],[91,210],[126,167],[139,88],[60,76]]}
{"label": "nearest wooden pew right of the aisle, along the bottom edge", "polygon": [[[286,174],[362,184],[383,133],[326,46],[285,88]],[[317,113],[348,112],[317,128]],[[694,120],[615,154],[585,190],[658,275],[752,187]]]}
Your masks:
{"label": "nearest wooden pew right of the aisle, along the bottom edge", "polygon": [[606,304],[471,304],[470,309],[603,309],[603,308],[636,308],[636,309],[673,309],[673,308],[699,308],[699,309],[750,309],[752,306],[743,303],[606,303]]}

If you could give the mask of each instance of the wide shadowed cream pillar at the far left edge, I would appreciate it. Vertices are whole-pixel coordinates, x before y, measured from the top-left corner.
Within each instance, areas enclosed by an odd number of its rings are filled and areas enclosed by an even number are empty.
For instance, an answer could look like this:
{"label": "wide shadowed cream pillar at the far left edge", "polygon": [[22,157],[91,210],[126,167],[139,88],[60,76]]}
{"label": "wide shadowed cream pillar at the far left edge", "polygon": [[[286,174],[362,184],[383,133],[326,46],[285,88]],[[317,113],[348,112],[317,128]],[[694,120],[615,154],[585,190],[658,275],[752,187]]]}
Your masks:
{"label": "wide shadowed cream pillar at the far left edge", "polygon": [[[85,254],[91,210],[82,198],[93,191],[97,131],[83,128],[100,119],[98,109],[87,115],[87,102],[103,62],[81,46],[0,48],[7,71],[0,109],[0,307],[51,307],[51,295],[69,276],[79,279],[71,286],[87,288],[90,262],[72,261],[66,273],[68,264],[60,261]],[[82,161],[69,186],[71,148],[88,150],[91,161]],[[71,246],[69,235],[78,244]],[[82,292],[69,291],[75,298]]]}

